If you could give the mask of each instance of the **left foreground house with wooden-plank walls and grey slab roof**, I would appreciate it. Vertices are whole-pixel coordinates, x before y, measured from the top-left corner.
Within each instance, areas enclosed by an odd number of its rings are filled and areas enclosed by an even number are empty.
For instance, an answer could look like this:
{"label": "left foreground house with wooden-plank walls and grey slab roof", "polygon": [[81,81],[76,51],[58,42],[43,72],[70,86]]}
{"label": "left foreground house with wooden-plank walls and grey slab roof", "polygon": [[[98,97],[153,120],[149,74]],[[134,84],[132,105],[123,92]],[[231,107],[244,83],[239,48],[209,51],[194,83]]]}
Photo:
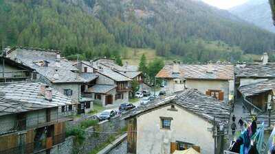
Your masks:
{"label": "left foreground house with wooden-plank walls and grey slab roof", "polygon": [[72,100],[37,82],[0,84],[0,153],[51,153],[65,142],[65,121],[58,107]]}

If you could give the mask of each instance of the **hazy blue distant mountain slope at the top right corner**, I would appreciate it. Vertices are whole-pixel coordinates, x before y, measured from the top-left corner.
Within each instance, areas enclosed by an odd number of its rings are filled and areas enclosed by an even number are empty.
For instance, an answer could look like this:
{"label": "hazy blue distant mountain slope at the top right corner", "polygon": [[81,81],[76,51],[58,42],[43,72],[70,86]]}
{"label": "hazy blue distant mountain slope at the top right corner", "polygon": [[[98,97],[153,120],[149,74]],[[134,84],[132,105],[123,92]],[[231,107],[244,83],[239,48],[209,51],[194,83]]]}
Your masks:
{"label": "hazy blue distant mountain slope at the top right corner", "polygon": [[229,11],[245,21],[275,33],[268,0],[250,0],[243,5],[231,8]]}

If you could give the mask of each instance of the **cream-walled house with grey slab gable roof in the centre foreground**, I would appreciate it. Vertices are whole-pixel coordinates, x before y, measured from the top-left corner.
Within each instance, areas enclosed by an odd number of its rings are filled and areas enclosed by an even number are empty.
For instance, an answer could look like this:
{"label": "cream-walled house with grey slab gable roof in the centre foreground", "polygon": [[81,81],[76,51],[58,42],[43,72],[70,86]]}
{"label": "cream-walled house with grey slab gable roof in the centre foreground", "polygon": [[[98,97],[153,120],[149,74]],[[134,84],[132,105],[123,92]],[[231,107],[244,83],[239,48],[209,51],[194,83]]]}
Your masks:
{"label": "cream-walled house with grey slab gable roof in the centre foreground", "polygon": [[195,89],[137,107],[125,118],[127,152],[167,154],[193,147],[201,154],[222,153],[230,112],[230,106]]}

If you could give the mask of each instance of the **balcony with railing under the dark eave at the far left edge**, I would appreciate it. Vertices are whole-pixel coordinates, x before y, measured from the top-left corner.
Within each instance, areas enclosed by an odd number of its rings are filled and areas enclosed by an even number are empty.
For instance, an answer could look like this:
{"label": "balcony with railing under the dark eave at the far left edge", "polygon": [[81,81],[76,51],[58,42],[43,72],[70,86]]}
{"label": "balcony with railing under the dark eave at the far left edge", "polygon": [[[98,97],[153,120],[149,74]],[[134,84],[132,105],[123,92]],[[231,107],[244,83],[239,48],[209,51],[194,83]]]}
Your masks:
{"label": "balcony with railing under the dark eave at the far left edge", "polygon": [[0,78],[31,78],[32,73],[28,70],[14,70],[7,72],[0,72]]}

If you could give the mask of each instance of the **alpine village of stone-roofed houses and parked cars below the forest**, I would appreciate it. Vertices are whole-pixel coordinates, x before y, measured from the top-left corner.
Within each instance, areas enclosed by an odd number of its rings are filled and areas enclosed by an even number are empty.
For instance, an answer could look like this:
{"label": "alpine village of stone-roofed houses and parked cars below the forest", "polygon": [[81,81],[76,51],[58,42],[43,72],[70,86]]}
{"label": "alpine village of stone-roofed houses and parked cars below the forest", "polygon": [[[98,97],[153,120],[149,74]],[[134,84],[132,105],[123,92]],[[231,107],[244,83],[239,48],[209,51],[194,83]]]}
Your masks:
{"label": "alpine village of stone-roofed houses and parked cars below the forest", "polygon": [[275,64],[267,53],[253,64],[174,61],[155,76],[160,90],[138,66],[106,57],[74,62],[60,53],[3,52],[1,154],[231,154],[239,153],[240,142],[248,148],[247,140],[267,151],[275,124]]}

